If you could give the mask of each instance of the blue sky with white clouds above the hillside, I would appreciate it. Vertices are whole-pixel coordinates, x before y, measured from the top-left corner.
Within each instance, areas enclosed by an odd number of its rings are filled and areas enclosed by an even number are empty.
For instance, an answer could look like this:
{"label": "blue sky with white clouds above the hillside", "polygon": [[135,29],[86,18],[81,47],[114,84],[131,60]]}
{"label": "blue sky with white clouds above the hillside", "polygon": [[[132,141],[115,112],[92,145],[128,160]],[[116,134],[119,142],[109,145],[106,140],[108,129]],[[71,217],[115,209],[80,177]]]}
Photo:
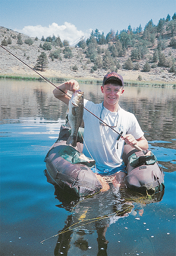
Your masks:
{"label": "blue sky with white clouds above the hillside", "polygon": [[149,20],[172,18],[176,0],[0,0],[0,26],[39,39],[59,35],[75,44],[98,29],[142,29]]}

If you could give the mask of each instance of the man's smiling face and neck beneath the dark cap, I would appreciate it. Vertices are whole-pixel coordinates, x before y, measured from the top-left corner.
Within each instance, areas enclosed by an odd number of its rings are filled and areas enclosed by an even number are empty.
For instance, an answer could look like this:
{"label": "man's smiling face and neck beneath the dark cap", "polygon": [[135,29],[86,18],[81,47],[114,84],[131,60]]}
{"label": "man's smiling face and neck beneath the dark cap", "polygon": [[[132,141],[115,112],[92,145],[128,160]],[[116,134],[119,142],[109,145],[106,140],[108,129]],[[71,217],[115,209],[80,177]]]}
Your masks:
{"label": "man's smiling face and neck beneath the dark cap", "polygon": [[101,86],[101,91],[104,95],[105,108],[108,108],[110,111],[116,112],[119,107],[119,98],[124,92],[123,87],[120,85],[110,83]]}

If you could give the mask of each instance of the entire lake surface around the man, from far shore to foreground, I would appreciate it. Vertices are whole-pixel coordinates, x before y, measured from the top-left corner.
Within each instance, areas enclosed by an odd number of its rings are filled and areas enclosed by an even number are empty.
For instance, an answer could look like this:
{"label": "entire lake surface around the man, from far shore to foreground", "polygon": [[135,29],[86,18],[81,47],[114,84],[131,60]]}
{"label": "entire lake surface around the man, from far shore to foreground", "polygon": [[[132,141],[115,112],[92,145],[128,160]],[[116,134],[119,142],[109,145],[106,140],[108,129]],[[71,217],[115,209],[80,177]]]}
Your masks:
{"label": "entire lake surface around the man, from far shore to foreground", "polygon": [[[80,89],[86,99],[102,101],[100,85]],[[52,90],[43,81],[0,80],[0,255],[175,256],[176,89],[125,87],[120,99],[165,172],[164,193],[150,199],[110,189],[79,204],[43,173],[67,110]]]}

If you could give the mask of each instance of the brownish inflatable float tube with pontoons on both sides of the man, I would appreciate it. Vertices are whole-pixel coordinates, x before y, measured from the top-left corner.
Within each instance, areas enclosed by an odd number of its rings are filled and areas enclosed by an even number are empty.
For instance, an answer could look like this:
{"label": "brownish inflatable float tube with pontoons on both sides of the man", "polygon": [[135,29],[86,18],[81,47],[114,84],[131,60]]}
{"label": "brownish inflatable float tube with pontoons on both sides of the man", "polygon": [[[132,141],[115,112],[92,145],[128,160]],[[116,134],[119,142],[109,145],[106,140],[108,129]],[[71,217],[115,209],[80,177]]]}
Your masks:
{"label": "brownish inflatable float tube with pontoons on both sides of the man", "polygon": [[[45,157],[46,170],[44,171],[47,181],[58,185],[62,190],[76,196],[92,195],[102,189],[91,166],[95,161],[82,154],[83,143],[78,136],[76,147],[66,145],[71,134],[71,129],[61,126],[57,141],[52,145]],[[136,166],[129,164],[129,158],[136,154],[138,161]],[[130,145],[124,146],[122,159],[125,163],[127,176],[126,186],[136,192],[153,194],[164,189],[164,174],[159,164],[148,164],[145,151],[137,151]],[[135,158],[135,157],[134,157]]]}

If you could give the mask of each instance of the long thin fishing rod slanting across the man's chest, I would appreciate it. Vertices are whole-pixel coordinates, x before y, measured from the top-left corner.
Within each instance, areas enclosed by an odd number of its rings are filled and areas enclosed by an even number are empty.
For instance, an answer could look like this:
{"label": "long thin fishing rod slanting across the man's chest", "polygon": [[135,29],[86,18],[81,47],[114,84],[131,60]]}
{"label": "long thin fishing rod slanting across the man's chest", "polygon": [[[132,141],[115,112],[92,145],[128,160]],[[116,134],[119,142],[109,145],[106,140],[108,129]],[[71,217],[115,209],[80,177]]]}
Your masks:
{"label": "long thin fishing rod slanting across the man's chest", "polygon": [[[71,96],[69,96],[67,93],[65,93],[63,90],[61,90],[60,88],[58,88],[55,84],[53,84],[51,81],[49,81],[48,79],[46,79],[44,76],[42,76],[40,73],[37,72],[37,70],[34,70],[34,68],[30,67],[28,64],[26,64],[24,61],[20,60],[20,58],[18,58],[17,56],[15,56],[13,53],[9,52],[6,48],[4,48],[1,44],[0,47],[2,47],[6,52],[8,52],[10,55],[12,55],[14,58],[16,58],[18,61],[22,62],[24,65],[26,65],[28,68],[30,68],[31,70],[33,70],[35,73],[37,73],[45,82],[47,82],[48,84],[50,84],[51,86],[53,86],[55,89],[60,90],[62,93],[64,93],[66,96],[68,96],[68,98],[71,99]],[[104,123],[106,126],[108,126],[109,128],[111,128],[113,131],[115,131],[117,134],[119,134],[122,138],[122,134],[120,134],[118,131],[116,131],[115,129],[113,129],[110,125],[108,125],[106,122],[104,122],[102,119],[100,119],[98,116],[96,116],[94,113],[92,113],[91,111],[89,111],[87,108],[84,107],[85,110],[87,110],[89,113],[91,113],[93,116],[95,116],[97,119],[99,119],[102,123]],[[136,148],[139,151],[142,151],[142,148],[140,148],[137,145],[133,145],[134,148]]]}

